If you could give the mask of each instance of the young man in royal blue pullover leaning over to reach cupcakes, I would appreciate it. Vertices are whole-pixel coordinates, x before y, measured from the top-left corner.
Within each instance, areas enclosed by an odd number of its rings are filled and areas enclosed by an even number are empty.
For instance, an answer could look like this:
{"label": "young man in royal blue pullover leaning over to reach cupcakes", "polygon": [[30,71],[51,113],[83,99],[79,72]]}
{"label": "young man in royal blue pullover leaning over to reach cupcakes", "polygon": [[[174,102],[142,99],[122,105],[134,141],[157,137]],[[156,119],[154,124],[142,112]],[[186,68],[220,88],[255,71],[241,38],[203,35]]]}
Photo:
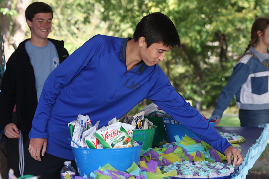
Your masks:
{"label": "young man in royal blue pullover leaning over to reach cupcakes", "polygon": [[[43,87],[29,134],[34,166],[45,167],[48,154],[59,161],[74,160],[68,123],[78,114],[89,115],[93,124],[100,120],[101,127],[145,98],[225,154],[228,162],[233,155],[234,165],[242,163],[239,150],[176,92],[158,66],[174,47],[180,47],[180,40],[173,22],[162,13],[151,13],[137,24],[133,38],[96,35],[72,53]],[[55,172],[62,166],[59,163]]]}

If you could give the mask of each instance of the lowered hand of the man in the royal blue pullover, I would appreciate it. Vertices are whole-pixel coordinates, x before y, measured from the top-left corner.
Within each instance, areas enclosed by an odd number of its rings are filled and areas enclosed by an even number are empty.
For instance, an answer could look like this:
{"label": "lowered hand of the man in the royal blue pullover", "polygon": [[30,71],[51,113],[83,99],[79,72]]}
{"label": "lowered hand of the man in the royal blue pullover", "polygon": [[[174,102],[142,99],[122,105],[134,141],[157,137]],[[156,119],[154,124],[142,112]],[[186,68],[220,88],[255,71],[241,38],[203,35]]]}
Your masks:
{"label": "lowered hand of the man in the royal blue pullover", "polygon": [[42,139],[42,138],[32,138],[29,143],[29,152],[31,157],[33,157],[37,161],[41,161],[40,157],[40,150],[41,148],[42,152],[41,155],[44,157],[45,152],[47,150],[47,139]]}

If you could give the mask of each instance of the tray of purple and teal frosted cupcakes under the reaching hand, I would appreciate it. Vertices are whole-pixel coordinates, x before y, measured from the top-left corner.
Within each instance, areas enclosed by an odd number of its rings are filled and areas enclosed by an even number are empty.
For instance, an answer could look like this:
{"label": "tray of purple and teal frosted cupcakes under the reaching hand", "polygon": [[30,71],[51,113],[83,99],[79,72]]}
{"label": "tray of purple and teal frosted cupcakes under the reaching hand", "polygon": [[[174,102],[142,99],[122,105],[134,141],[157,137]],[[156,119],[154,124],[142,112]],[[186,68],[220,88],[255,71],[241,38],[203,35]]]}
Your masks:
{"label": "tray of purple and teal frosted cupcakes under the reaching hand", "polygon": [[239,175],[239,172],[229,163],[221,162],[208,162],[208,161],[196,161],[196,162],[174,162],[168,166],[163,166],[163,172],[170,172],[172,170],[177,171],[174,179],[184,178],[212,178],[212,179],[228,179]]}

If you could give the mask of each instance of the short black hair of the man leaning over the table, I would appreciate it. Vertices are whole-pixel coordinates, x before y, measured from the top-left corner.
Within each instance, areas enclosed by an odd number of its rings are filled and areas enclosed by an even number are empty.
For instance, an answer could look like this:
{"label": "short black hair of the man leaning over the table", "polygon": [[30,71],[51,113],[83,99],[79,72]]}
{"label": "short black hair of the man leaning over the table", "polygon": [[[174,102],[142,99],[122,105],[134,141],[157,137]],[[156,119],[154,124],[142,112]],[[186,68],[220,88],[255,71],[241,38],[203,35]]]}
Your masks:
{"label": "short black hair of the man leaning over the table", "polygon": [[177,29],[171,19],[163,13],[150,13],[137,24],[133,38],[145,37],[147,47],[153,43],[163,43],[166,47],[180,47]]}

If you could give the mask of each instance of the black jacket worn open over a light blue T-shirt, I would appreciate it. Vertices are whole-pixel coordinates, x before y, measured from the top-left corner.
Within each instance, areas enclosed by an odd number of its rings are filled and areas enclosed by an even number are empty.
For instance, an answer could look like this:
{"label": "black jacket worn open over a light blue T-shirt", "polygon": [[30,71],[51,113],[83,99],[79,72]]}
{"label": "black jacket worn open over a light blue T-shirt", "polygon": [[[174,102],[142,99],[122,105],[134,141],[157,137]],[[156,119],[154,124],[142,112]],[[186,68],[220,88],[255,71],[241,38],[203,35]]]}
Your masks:
{"label": "black jacket worn open over a light blue T-shirt", "polygon": [[[25,50],[25,41],[10,56],[1,82],[0,125],[12,123],[12,111],[16,104],[17,127],[22,132],[30,132],[37,106],[35,75],[30,58]],[[64,42],[48,38],[57,50],[60,63],[69,56]]]}

